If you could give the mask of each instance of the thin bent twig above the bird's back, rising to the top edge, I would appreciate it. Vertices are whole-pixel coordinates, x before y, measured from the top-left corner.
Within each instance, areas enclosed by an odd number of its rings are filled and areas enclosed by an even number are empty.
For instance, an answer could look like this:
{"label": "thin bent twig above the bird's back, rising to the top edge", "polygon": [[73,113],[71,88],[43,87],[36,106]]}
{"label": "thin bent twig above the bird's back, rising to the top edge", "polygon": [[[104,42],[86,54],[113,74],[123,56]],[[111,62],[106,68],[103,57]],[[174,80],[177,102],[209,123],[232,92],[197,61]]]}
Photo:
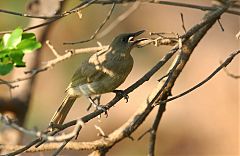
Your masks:
{"label": "thin bent twig above the bird's back, rising to the top edge", "polygon": [[78,41],[78,42],[65,42],[65,43],[63,43],[63,44],[79,44],[79,43],[85,43],[85,42],[89,42],[89,41],[93,40],[93,39],[96,37],[96,35],[98,34],[98,32],[103,28],[103,26],[104,26],[104,25],[107,23],[107,21],[110,19],[111,15],[112,15],[112,13],[113,13],[113,10],[114,10],[114,8],[115,8],[115,5],[116,5],[116,3],[113,3],[113,5],[112,5],[111,9],[109,10],[106,18],[103,20],[103,22],[99,25],[99,27],[97,28],[97,30],[93,33],[93,35],[92,35],[89,39],[83,40],[83,41]]}

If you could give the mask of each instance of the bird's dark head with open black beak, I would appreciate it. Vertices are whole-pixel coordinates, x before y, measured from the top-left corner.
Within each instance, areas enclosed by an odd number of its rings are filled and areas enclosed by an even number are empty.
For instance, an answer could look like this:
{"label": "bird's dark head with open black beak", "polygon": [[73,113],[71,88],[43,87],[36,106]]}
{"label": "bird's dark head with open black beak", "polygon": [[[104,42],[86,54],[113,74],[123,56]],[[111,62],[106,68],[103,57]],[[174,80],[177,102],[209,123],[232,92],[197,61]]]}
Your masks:
{"label": "bird's dark head with open black beak", "polygon": [[117,37],[115,37],[110,44],[110,48],[117,51],[123,51],[123,52],[130,52],[131,49],[139,43],[140,40],[135,40],[135,37],[142,34],[145,30],[141,30],[134,33],[125,33],[120,34]]}

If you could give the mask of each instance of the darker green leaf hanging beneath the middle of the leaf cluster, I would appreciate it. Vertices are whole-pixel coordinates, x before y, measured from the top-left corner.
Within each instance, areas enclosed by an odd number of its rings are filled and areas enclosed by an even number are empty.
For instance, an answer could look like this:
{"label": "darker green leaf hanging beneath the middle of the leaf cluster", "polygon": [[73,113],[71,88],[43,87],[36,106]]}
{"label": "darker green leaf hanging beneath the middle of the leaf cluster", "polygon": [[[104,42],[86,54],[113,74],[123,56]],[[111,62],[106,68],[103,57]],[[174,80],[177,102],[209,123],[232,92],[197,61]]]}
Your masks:
{"label": "darker green leaf hanging beneath the middle of the leaf cluster", "polygon": [[25,62],[23,62],[24,53],[21,50],[12,50],[9,53],[9,57],[14,62],[16,67],[25,67]]}

